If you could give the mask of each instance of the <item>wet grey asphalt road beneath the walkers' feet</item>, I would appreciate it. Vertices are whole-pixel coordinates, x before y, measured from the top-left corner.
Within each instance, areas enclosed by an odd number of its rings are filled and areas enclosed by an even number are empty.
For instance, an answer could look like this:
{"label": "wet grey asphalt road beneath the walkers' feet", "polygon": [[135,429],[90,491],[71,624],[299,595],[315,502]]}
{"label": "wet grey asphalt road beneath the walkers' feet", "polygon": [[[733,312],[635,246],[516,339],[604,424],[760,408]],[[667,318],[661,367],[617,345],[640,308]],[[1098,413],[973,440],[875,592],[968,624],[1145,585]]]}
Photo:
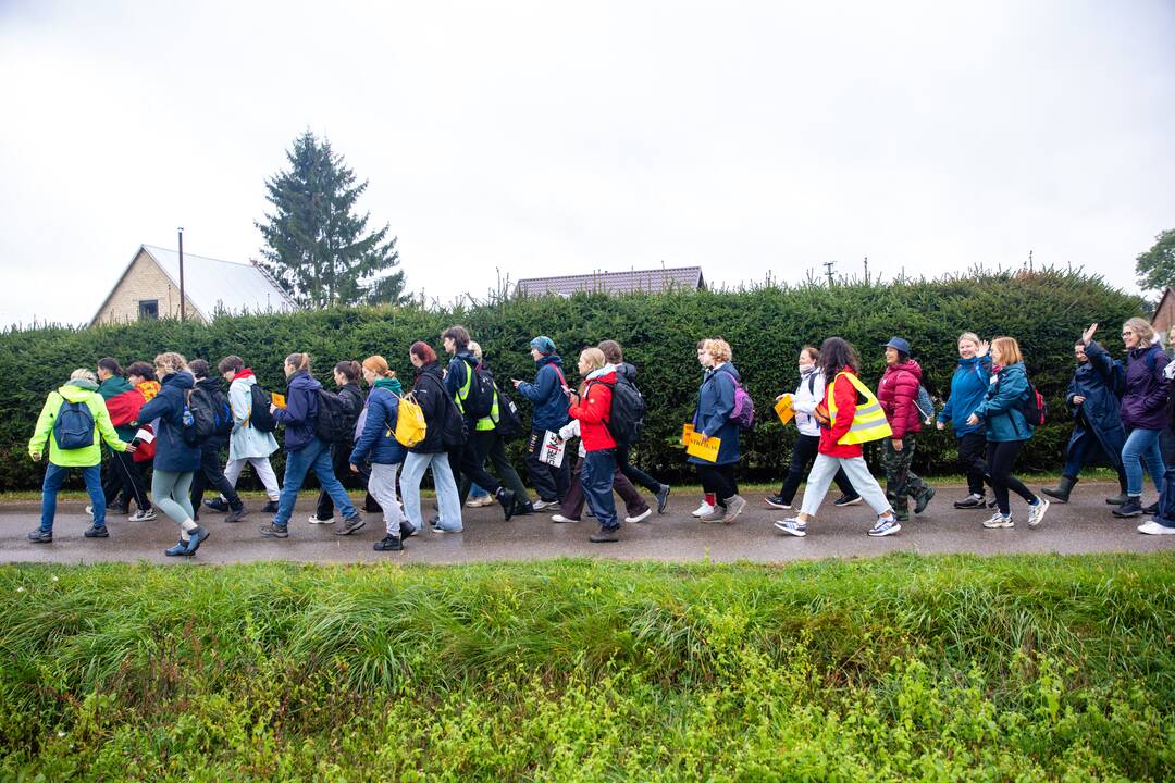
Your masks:
{"label": "wet grey asphalt road beneath the walkers' feet", "polygon": [[[93,563],[105,561],[149,561],[173,565],[190,562],[248,562],[294,560],[302,562],[398,562],[456,563],[492,560],[537,560],[560,556],[607,556],[622,560],[650,559],[691,561],[710,559],[726,562],[752,560],[773,562],[795,559],[871,556],[888,552],[974,553],[1060,553],[1175,551],[1175,535],[1143,535],[1135,527],[1144,518],[1120,520],[1110,515],[1103,499],[1115,494],[1116,484],[1079,485],[1068,505],[1054,504],[1045,524],[1029,529],[1022,500],[1013,497],[1013,529],[989,531],[981,521],[991,512],[958,511],[952,507],[962,488],[940,487],[926,513],[902,525],[897,535],[871,539],[865,531],[873,514],[864,505],[835,508],[831,498],[818,518],[808,525],[804,539],[784,535],[772,521],[787,512],[768,507],[761,495],[748,497],[747,511],[732,525],[701,525],[690,515],[698,498],[671,495],[664,515],[649,521],[625,524],[619,544],[590,544],[595,529],[591,519],[556,525],[548,513],[517,517],[503,522],[497,506],[466,508],[465,531],[436,534],[427,529],[405,542],[400,553],[382,553],[371,545],[383,538],[383,520],[365,514],[367,526],[348,536],[333,535],[334,526],[309,525],[313,499],[297,505],[290,536],[262,539],[260,525],[270,521],[261,502],[236,525],[208,509],[201,524],[212,536],[194,558],[166,558],[163,549],[176,541],[176,526],[162,514],[150,522],[130,522],[110,517],[108,539],[86,539],[89,526],[83,502],[62,502],[58,508],[52,544],[32,544],[25,536],[39,522],[36,502],[7,502],[0,506],[0,562]],[[1144,501],[1153,500],[1147,495]],[[428,508],[429,501],[425,501]],[[622,507],[623,508],[623,507]]]}

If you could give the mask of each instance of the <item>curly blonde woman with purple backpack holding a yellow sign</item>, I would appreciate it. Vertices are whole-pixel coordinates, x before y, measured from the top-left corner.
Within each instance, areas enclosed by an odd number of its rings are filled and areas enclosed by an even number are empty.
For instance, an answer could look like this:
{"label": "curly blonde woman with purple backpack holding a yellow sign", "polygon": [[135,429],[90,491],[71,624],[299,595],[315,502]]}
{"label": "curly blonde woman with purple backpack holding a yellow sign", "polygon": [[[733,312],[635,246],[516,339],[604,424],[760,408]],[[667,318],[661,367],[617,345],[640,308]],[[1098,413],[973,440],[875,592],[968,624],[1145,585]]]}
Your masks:
{"label": "curly blonde woman with purple backpack holding a yellow sign", "polygon": [[734,386],[739,380],[738,370],[731,364],[731,346],[724,339],[707,339],[698,353],[698,360],[706,374],[698,390],[698,407],[693,413],[693,430],[705,439],[718,438],[718,457],[707,461],[700,457],[687,460],[698,466],[701,491],[714,495],[714,509],[699,519],[707,524],[730,525],[743,509],[746,500],[738,493],[734,466],[739,451],[738,424],[731,420],[734,411]]}

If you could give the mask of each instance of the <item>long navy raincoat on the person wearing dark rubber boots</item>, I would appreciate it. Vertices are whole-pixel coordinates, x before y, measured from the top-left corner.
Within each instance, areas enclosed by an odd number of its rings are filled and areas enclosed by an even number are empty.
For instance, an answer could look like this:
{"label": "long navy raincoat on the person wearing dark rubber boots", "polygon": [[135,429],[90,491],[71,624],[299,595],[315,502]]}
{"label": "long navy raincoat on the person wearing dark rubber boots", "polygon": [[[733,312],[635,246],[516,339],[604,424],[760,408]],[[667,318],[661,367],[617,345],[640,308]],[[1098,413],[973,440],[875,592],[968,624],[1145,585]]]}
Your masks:
{"label": "long navy raincoat on the person wearing dark rubber boots", "polygon": [[[1101,345],[1092,342],[1086,345],[1088,362],[1073,371],[1073,380],[1065,392],[1065,404],[1076,420],[1069,446],[1081,437],[1081,431],[1089,428],[1109,457],[1114,467],[1122,465],[1122,447],[1126,446],[1126,427],[1122,426],[1120,405],[1126,391],[1126,367],[1121,362],[1112,359]],[[1074,405],[1073,398],[1080,394],[1086,398],[1081,405]]]}

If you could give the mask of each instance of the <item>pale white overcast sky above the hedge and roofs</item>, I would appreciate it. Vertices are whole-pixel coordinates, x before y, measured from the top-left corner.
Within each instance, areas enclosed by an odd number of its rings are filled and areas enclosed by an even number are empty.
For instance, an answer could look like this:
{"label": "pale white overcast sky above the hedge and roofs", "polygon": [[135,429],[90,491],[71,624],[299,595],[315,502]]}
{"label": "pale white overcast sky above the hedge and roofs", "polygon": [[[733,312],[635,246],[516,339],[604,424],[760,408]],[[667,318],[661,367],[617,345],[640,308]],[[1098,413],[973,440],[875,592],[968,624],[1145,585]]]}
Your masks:
{"label": "pale white overcast sky above the hedge and roofs", "polygon": [[309,128],[412,290],[1082,265],[1175,228],[1175,2],[0,0],[0,323],[258,256]]}

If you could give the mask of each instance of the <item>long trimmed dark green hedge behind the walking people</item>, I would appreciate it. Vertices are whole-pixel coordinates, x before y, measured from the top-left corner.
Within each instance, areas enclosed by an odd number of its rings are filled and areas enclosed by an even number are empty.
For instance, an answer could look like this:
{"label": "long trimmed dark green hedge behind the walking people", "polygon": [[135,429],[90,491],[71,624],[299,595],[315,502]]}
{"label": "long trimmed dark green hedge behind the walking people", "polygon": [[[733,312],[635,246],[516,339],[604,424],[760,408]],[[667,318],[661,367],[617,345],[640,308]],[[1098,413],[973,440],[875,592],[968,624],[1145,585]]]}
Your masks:
{"label": "long trimmed dark green hedge behind the walking people", "polygon": [[[795,432],[774,420],[771,401],[794,387],[795,357],[805,343],[832,335],[851,340],[864,355],[862,376],[872,385],[884,369],[880,345],[901,335],[913,344],[928,385],[945,392],[961,331],[1012,335],[1020,340],[1028,370],[1050,410],[1049,421],[1025,450],[1021,466],[1055,468],[1069,432],[1062,397],[1073,370],[1074,339],[1097,320],[1106,325],[1102,336],[1117,353],[1117,326],[1141,312],[1141,299],[1099,277],[1048,270],[885,285],[850,282],[833,288],[548,296],[441,311],[354,308],[223,317],[210,325],[159,320],[13,330],[0,333],[0,374],[6,379],[0,386],[0,490],[39,486],[40,471],[28,460],[26,444],[45,394],[70,370],[94,366],[102,356],[128,364],[149,360],[163,350],[212,362],[239,353],[267,387],[281,389],[282,359],[293,351],[309,352],[321,377],[338,359],[382,353],[410,378],[409,345],[427,339],[438,346],[441,331],[451,323],[469,326],[503,383],[511,376],[533,377],[528,343],[535,335],[555,339],[572,377],[573,356],[582,346],[618,339],[626,358],[640,369],[638,380],[650,407],[638,461],[670,478],[685,473],[677,440],[682,424],[692,414],[700,379],[694,344],[703,337],[723,336],[733,346],[734,365],[760,412],[754,431],[744,436],[741,474],[770,479],[786,465]],[[927,433],[919,443],[914,468],[953,473],[954,458],[949,433]]]}

